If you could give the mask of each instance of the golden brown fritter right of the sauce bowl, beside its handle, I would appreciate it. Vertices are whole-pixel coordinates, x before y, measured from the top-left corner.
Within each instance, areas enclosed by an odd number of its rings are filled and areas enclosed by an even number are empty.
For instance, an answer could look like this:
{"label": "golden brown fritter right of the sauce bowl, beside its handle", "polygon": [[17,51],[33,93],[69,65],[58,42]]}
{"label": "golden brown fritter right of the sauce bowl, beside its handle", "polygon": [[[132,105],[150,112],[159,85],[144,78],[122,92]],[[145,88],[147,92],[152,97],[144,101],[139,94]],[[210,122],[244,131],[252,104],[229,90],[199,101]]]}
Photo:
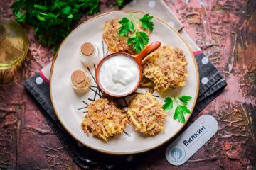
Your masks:
{"label": "golden brown fritter right of the sauce bowl, beside its handle", "polygon": [[164,45],[143,60],[142,74],[154,85],[155,90],[163,93],[169,88],[185,86],[187,64],[182,50]]}

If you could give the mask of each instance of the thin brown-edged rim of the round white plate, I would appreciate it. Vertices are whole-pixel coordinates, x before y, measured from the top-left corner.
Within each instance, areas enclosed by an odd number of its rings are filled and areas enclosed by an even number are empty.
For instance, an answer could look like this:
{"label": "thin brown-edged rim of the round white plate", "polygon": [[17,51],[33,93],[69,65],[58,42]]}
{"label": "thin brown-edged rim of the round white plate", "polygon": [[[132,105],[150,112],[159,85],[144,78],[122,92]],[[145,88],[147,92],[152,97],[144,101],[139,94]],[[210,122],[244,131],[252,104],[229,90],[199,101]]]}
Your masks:
{"label": "thin brown-edged rim of the round white plate", "polygon": [[168,142],[169,140],[171,140],[171,138],[175,137],[179,132],[181,132],[181,130],[182,130],[182,129],[184,128],[184,126],[186,125],[186,123],[188,123],[188,120],[189,120],[189,118],[191,117],[191,114],[193,113],[193,110],[194,110],[194,108],[195,108],[195,106],[196,106],[196,101],[198,100],[199,84],[200,84],[200,82],[199,82],[198,65],[196,64],[196,63],[197,63],[197,62],[196,62],[196,57],[193,55],[193,52],[192,52],[192,50],[191,50],[191,47],[189,47],[189,45],[188,45],[188,42],[182,37],[182,35],[181,35],[180,33],[178,33],[177,30],[175,30],[174,28],[172,28],[171,26],[169,26],[169,24],[166,23],[166,21],[164,21],[164,20],[162,20],[161,18],[158,18],[158,17],[156,17],[156,16],[154,16],[154,15],[151,15],[151,16],[153,16],[156,20],[160,21],[161,23],[164,23],[164,24],[165,24],[166,26],[168,26],[171,30],[173,30],[174,33],[176,33],[176,34],[178,35],[178,37],[180,37],[181,40],[186,44],[186,46],[188,47],[189,52],[191,53],[191,56],[192,56],[192,59],[193,59],[193,65],[196,67],[196,79],[197,79],[196,99],[195,99],[195,101],[194,101],[194,103],[193,103],[193,105],[192,105],[191,113],[188,114],[188,116],[187,116],[187,118],[186,118],[186,122],[183,123],[183,125],[181,125],[181,127],[180,127],[178,130],[176,130],[175,135],[173,135],[172,137],[169,137],[167,140],[164,140],[164,141],[159,142],[159,144],[156,145],[156,146],[154,146],[154,147],[149,147],[149,148],[147,148],[147,149],[140,150],[140,151],[136,151],[136,152],[134,152],[134,151],[131,151],[131,152],[111,152],[111,151],[106,151],[106,150],[103,150],[103,149],[98,149],[98,148],[96,148],[96,147],[89,146],[89,145],[85,144],[85,142],[82,142],[82,140],[80,140],[78,137],[75,137],[75,135],[73,135],[72,132],[70,132],[70,131],[68,130],[68,128],[65,127],[65,123],[63,123],[63,122],[61,121],[60,115],[58,114],[58,112],[57,112],[57,110],[56,110],[56,108],[55,108],[55,104],[54,104],[54,102],[53,102],[53,95],[52,95],[52,88],[51,88],[51,79],[52,79],[52,77],[53,77],[53,69],[54,69],[55,60],[57,59],[57,57],[58,57],[58,52],[59,52],[60,48],[63,46],[63,43],[65,42],[65,40],[67,40],[68,37],[69,37],[75,30],[77,30],[78,28],[80,28],[80,26],[82,26],[83,24],[85,24],[85,23],[87,23],[87,22],[89,22],[89,21],[92,21],[92,20],[94,20],[95,18],[99,18],[99,17],[101,17],[101,16],[109,15],[109,14],[111,14],[111,13],[120,13],[120,12],[124,12],[124,13],[140,13],[140,14],[146,14],[145,12],[142,12],[142,11],[135,11],[135,10],[119,10],[119,11],[110,11],[110,12],[107,12],[107,13],[101,13],[101,14],[99,14],[99,15],[97,15],[97,16],[94,16],[94,17],[88,19],[88,20],[85,21],[85,22],[80,23],[80,25],[78,25],[76,28],[74,28],[74,29],[68,34],[68,36],[60,43],[60,47],[58,47],[58,51],[57,51],[56,54],[54,55],[54,57],[53,57],[53,62],[52,62],[51,67],[50,67],[50,79],[49,79],[49,80],[50,80],[50,84],[49,84],[49,85],[50,85],[50,101],[51,101],[51,103],[52,103],[52,105],[53,105],[53,111],[55,112],[55,115],[57,116],[57,118],[58,118],[60,124],[63,126],[63,128],[66,130],[66,132],[68,132],[68,134],[71,135],[76,141],[80,142],[82,145],[85,145],[85,147],[89,147],[90,149],[94,149],[94,150],[96,150],[96,151],[98,151],[98,152],[102,152],[102,153],[104,153],[104,154],[114,154],[114,155],[139,154],[139,153],[142,153],[142,152],[147,152],[147,151],[149,151],[149,150],[151,150],[151,149],[155,149],[156,147],[160,147],[161,145],[164,145],[164,143]]}

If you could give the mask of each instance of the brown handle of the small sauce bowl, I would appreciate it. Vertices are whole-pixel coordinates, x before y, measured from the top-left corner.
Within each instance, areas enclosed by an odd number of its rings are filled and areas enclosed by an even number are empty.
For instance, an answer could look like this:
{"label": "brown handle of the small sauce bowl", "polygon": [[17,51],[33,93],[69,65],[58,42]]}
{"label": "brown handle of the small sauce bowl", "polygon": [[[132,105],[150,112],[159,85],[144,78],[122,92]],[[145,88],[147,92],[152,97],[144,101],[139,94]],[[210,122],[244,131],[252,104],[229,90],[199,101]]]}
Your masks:
{"label": "brown handle of the small sauce bowl", "polygon": [[158,49],[161,45],[160,41],[152,42],[150,45],[146,46],[142,52],[139,52],[139,55],[134,56],[134,59],[139,64],[139,66],[142,64],[142,60],[144,57],[149,55],[151,52],[154,52],[154,50]]}

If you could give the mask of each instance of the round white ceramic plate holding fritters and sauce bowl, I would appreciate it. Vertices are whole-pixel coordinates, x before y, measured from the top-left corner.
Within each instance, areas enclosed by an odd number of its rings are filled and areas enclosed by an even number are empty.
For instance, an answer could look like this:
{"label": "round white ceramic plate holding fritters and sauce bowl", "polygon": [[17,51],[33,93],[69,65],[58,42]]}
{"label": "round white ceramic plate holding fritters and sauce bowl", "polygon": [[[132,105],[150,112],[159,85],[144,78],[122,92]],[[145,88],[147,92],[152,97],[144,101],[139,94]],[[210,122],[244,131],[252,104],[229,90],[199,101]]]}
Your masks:
{"label": "round white ceramic plate holding fritters and sauce bowl", "polygon": [[[100,152],[109,154],[133,154],[139,152],[145,152],[149,149],[153,149],[163,144],[164,142],[174,137],[184,124],[178,123],[177,120],[172,118],[174,111],[169,111],[166,118],[165,130],[158,135],[152,137],[144,137],[135,131],[132,125],[127,125],[125,133],[117,135],[110,139],[108,142],[102,142],[91,135],[87,136],[81,129],[81,121],[85,116],[87,104],[90,104],[96,98],[100,98],[99,90],[97,90],[97,84],[95,84],[92,78],[91,85],[92,90],[86,94],[76,94],[73,91],[70,82],[70,76],[75,69],[85,69],[80,62],[79,49],[83,42],[93,42],[100,50],[100,54],[103,56],[107,54],[107,47],[102,41],[103,26],[105,21],[114,17],[128,16],[129,13],[134,13],[135,16],[141,17],[144,13],[137,11],[114,11],[110,13],[104,13],[100,16],[85,21],[78,28],[75,28],[70,35],[63,41],[58,55],[55,56],[51,74],[50,74],[50,97],[60,123],[63,127],[75,137],[76,140],[83,145],[96,149]],[[158,96],[159,101],[163,102],[166,96],[178,96],[186,95],[192,96],[192,100],[188,103],[188,108],[193,111],[198,96],[198,68],[196,60],[189,49],[187,43],[181,38],[181,35],[171,28],[167,23],[161,21],[159,18],[154,18],[154,31],[149,37],[149,42],[155,40],[161,41],[162,45],[171,45],[171,47],[179,47],[183,50],[184,55],[188,61],[188,78],[186,80],[186,86],[170,90],[161,96],[158,93],[154,95]],[[90,68],[90,72],[95,77],[95,69]],[[97,91],[97,93],[95,92]],[[145,89],[138,89],[139,92],[144,92]],[[129,97],[125,98],[126,102],[129,101]],[[124,99],[119,100],[125,105]],[[186,115],[186,122],[191,114]]]}

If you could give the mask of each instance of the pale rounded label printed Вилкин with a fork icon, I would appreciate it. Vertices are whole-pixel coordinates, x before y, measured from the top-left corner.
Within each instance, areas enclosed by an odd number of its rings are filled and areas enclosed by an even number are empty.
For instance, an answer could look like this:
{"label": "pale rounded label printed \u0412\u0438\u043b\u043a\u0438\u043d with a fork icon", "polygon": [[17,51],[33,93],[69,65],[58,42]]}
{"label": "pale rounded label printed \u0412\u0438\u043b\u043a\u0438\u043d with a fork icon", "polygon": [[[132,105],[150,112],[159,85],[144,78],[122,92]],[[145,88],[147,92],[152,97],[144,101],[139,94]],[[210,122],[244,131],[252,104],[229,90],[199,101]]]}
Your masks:
{"label": "pale rounded label printed \u0412\u0438\u043b\u043a\u0438\u043d with a fork icon", "polygon": [[218,123],[211,115],[202,115],[188,127],[166,149],[166,159],[170,164],[184,164],[218,130]]}

